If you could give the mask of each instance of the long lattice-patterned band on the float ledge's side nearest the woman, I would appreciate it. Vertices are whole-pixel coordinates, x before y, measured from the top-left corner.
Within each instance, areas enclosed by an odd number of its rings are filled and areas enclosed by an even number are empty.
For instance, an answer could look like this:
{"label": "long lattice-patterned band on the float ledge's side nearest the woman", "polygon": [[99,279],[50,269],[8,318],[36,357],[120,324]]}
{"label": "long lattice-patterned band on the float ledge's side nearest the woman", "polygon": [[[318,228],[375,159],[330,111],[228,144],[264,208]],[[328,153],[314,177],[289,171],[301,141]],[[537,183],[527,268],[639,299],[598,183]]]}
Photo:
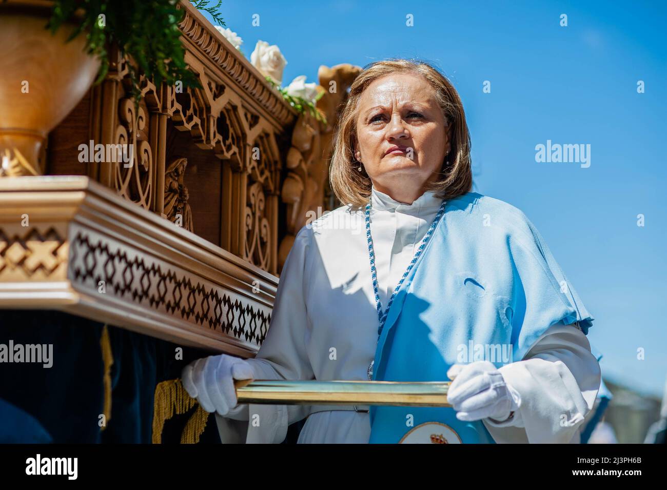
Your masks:
{"label": "long lattice-patterned band on the float ledge's side nearest the woman", "polygon": [[259,345],[264,339],[270,314],[239,301],[238,295],[97,233],[79,227],[72,231],[68,275],[78,289],[95,294],[103,281],[105,294],[142,311],[153,310],[247,343]]}

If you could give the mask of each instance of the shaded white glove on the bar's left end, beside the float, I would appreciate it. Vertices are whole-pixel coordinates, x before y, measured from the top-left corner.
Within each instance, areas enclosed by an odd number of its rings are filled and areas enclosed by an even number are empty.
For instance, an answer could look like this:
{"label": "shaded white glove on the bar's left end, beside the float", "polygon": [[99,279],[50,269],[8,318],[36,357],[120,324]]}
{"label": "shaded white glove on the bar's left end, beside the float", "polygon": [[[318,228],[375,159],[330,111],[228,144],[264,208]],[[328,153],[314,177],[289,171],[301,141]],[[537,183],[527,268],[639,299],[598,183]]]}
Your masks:
{"label": "shaded white glove on the bar's left end, beside the float", "polygon": [[188,395],[207,412],[223,417],[237,405],[234,379],[253,379],[250,363],[233,355],[211,355],[183,368],[181,380]]}

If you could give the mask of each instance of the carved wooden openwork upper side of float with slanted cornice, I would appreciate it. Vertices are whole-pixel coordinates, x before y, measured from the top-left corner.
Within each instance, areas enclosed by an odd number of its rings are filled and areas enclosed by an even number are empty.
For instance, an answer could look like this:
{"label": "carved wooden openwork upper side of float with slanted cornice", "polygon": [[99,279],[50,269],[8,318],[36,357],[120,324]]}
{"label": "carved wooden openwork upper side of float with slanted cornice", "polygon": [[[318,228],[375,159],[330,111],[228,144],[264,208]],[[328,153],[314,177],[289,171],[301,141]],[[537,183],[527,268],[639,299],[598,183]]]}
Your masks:
{"label": "carved wooden openwork upper side of float with slanted cornice", "polygon": [[[181,23],[185,61],[201,89],[163,85],[141,78],[143,99],[131,99],[131,60],[112,53],[107,80],[93,89],[91,139],[134,145],[135,165],[94,163],[88,175],[145,209],[172,219],[175,184],[168,175],[167,119],[193,145],[219,159],[223,197],[221,246],[270,273],[277,273],[278,197],[281,157],[278,139],[289,133],[296,111],[264,77],[189,3]],[[179,153],[183,153],[182,151]],[[187,155],[187,153],[185,153]],[[183,202],[183,195],[177,200]],[[177,206],[178,207],[178,206]],[[183,207],[187,214],[187,205]],[[191,216],[191,215],[190,215]],[[183,215],[185,219],[185,215]],[[197,232],[192,219],[185,229]]]}

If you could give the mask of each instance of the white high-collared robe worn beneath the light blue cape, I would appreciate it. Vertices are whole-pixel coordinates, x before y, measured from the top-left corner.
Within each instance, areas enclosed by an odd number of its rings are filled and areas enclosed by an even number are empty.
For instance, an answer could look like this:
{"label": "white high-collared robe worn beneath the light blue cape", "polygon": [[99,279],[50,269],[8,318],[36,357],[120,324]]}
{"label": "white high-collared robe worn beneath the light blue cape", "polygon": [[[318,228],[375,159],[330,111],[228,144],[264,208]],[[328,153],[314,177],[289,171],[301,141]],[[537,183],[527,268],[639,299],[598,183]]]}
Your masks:
{"label": "white high-collared robe worn beneath the light blue cape", "polygon": [[[441,202],[427,191],[408,205],[372,189],[371,233],[383,309]],[[349,209],[339,207],[297,233],[281,272],[269,331],[257,356],[248,359],[255,379],[368,379],[378,313],[364,211]],[[318,329],[322,318],[335,327]],[[497,443],[580,441],[584,416],[600,385],[600,366],[582,331],[552,325],[523,361],[500,371],[522,396],[522,407],[508,421],[483,420]],[[445,373],[443,381],[448,381]],[[243,404],[226,417],[216,414],[216,421],[223,443],[280,443],[287,425],[304,417],[299,443],[368,443],[368,413],[309,415],[310,409]]]}

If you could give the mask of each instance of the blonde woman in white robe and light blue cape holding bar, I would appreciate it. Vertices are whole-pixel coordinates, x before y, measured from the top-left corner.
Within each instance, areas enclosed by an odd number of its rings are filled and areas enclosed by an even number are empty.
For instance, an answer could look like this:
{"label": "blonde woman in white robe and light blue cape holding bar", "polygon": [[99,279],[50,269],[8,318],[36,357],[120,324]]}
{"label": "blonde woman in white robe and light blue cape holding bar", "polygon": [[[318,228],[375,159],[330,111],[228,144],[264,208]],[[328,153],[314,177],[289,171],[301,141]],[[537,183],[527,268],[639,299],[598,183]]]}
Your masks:
{"label": "blonde woman in white robe and light blue cape holding bar", "polygon": [[[593,317],[524,213],[470,191],[468,127],[446,77],[414,61],[366,67],[329,177],[348,204],[297,234],[257,356],[199,359],[183,371],[188,393],[249,420],[248,442],[279,443],[303,417],[299,443],[408,441],[427,423],[440,443],[579,442],[600,385]],[[237,405],[233,390],[446,376],[451,408]]]}

